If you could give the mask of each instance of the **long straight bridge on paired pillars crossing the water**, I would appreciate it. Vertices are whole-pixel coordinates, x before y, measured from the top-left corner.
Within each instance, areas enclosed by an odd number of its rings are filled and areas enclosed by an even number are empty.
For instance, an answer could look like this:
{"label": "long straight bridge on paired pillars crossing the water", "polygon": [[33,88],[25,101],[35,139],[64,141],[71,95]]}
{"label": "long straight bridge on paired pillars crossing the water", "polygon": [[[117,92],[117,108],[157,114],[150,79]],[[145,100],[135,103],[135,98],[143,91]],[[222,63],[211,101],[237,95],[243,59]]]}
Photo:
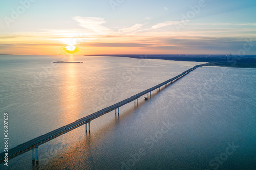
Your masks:
{"label": "long straight bridge on paired pillars crossing the water", "polygon": [[8,150],[8,155],[6,156],[6,152],[2,152],[0,153],[0,164],[5,162],[5,160],[10,160],[12,158],[15,158],[25,152],[28,152],[29,150],[32,150],[32,161],[34,162],[36,160],[36,162],[38,163],[39,161],[39,157],[38,157],[38,146],[41,145],[41,144],[44,144],[56,137],[59,137],[60,135],[63,135],[65,133],[68,133],[69,131],[71,130],[74,130],[82,125],[85,125],[85,130],[87,132],[87,124],[88,124],[88,131],[90,133],[90,122],[106,113],[109,113],[113,110],[115,110],[115,114],[119,114],[119,108],[127,103],[130,103],[132,101],[134,101],[134,103],[136,102],[137,100],[137,104],[138,104],[138,98],[140,98],[141,96],[147,94],[147,97],[148,95],[151,95],[151,92],[154,91],[154,90],[158,90],[160,91],[160,88],[162,86],[167,86],[168,83],[172,84],[173,82],[177,81],[178,79],[180,79],[181,77],[185,76],[186,74],[188,74],[189,72],[195,70],[196,68],[200,67],[202,65],[196,65],[194,66],[193,68],[190,68],[184,72],[182,72],[181,74],[179,74],[178,76],[175,76],[173,77],[172,79],[169,79],[169,80],[166,80],[165,82],[163,83],[160,83],[154,87],[151,87],[145,91],[142,91],[138,94],[135,94],[133,96],[131,96],[130,98],[127,98],[121,102],[118,102],[112,106],[109,106],[109,107],[106,107],[100,111],[97,111],[95,113],[92,113],[86,117],[83,117],[79,120],[76,120],[75,122],[72,122],[68,125],[65,125],[63,127],[60,127],[58,129],[55,129],[49,133],[46,133],[44,135],[41,135],[39,137],[36,137],[32,140],[29,140],[23,144],[19,144],[17,145],[16,147]]}

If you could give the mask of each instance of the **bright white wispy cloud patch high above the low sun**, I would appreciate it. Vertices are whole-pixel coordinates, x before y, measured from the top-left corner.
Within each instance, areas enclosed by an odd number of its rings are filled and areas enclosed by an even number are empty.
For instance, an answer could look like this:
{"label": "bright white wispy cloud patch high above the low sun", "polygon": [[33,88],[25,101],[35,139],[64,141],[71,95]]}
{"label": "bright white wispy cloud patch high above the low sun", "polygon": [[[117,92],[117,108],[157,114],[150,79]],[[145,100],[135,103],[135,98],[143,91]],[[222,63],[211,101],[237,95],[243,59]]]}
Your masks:
{"label": "bright white wispy cloud patch high above the low sun", "polygon": [[109,28],[102,26],[104,23],[106,23],[104,18],[75,16],[73,19],[79,23],[79,26],[93,30],[96,33],[109,34],[112,32]]}

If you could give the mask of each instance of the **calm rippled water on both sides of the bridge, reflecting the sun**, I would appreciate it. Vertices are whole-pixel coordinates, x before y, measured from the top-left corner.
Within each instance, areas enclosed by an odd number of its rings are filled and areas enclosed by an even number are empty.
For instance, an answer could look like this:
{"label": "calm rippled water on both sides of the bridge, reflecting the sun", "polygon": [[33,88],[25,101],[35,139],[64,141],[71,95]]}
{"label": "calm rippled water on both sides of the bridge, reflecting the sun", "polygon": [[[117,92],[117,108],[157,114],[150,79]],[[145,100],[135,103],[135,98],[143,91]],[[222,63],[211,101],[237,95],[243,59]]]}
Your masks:
{"label": "calm rippled water on both sides of the bridge, reflecting the sun", "polygon": [[[65,60],[83,63],[52,64],[61,60],[0,56],[0,132],[8,112],[9,148],[200,64],[99,56],[70,56]],[[119,116],[110,112],[93,120],[90,134],[82,126],[41,145],[38,165],[30,151],[8,167],[256,169],[255,87],[255,69],[200,67],[148,101],[122,106]],[[1,164],[0,169],[8,168]]]}

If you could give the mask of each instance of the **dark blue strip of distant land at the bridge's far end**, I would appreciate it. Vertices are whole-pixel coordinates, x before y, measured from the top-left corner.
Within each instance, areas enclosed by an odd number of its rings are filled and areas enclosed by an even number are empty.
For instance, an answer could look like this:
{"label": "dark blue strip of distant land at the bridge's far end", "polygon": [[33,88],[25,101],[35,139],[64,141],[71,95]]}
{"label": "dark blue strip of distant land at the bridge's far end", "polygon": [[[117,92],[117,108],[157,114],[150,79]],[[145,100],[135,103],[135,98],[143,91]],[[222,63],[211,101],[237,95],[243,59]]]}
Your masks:
{"label": "dark blue strip of distant land at the bridge's far end", "polygon": [[161,59],[172,61],[207,62],[202,66],[256,68],[256,55],[243,57],[233,55],[99,55],[108,57],[129,57],[137,59]]}

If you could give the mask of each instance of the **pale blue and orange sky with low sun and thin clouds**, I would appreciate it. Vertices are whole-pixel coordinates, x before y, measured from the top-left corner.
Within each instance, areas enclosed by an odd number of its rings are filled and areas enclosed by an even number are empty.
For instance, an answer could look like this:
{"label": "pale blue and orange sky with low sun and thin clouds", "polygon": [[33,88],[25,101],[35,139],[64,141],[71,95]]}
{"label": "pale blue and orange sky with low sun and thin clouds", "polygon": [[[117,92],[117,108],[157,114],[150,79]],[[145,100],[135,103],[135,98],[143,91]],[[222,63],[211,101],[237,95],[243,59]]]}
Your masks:
{"label": "pale blue and orange sky with low sun and thin clouds", "polygon": [[256,55],[255,0],[0,1],[0,54]]}

